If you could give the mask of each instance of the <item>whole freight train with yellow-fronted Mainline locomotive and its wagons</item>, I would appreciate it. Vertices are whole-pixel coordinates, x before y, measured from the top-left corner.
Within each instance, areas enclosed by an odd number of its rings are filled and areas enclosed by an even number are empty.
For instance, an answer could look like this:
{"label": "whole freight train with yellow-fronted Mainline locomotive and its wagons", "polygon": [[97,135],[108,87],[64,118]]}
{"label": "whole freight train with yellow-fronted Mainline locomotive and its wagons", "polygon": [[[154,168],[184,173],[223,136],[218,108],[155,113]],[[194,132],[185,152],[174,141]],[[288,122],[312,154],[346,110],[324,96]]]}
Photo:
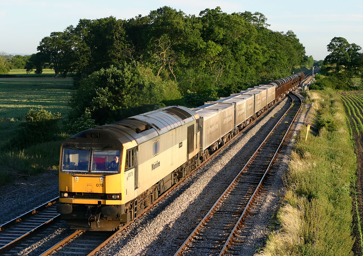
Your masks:
{"label": "whole freight train with yellow-fronted Mainline locomotive and its wagons", "polygon": [[168,106],[81,131],[61,146],[61,218],[73,229],[111,231],[302,83],[294,74],[189,109]]}

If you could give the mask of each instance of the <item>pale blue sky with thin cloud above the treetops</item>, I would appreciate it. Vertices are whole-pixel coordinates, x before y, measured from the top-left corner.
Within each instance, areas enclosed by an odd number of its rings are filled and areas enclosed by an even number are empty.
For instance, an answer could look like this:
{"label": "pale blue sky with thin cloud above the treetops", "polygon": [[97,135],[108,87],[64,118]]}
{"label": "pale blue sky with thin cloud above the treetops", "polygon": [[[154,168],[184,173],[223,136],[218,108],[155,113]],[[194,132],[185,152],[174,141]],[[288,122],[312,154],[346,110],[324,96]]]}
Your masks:
{"label": "pale blue sky with thin cloud above the treetops", "polygon": [[307,55],[321,60],[328,54],[326,45],[335,36],[363,47],[363,1],[322,0],[0,0],[0,52],[35,53],[39,41],[53,31],[77,25],[79,19],[114,16],[129,19],[147,15],[168,5],[186,14],[220,6],[223,12],[261,12],[274,31],[292,30],[306,48]]}

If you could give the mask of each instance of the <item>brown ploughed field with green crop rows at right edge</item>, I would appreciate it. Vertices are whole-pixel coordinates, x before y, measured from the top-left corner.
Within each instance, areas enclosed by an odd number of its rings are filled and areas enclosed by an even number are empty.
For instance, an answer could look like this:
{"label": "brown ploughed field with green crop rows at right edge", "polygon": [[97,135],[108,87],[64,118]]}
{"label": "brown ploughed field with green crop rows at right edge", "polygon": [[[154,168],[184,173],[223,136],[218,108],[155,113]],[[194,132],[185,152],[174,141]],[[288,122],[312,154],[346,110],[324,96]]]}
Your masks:
{"label": "brown ploughed field with green crop rows at right edge", "polygon": [[[352,209],[352,212],[354,212],[353,221],[355,222],[353,252],[355,255],[360,255],[362,252],[360,238],[362,228],[360,222],[358,223],[358,219],[363,218],[363,91],[341,92],[339,94],[344,103],[357,154],[356,200],[353,198],[354,205]],[[356,211],[356,206],[358,206],[358,211]],[[358,218],[358,214],[360,218]]]}

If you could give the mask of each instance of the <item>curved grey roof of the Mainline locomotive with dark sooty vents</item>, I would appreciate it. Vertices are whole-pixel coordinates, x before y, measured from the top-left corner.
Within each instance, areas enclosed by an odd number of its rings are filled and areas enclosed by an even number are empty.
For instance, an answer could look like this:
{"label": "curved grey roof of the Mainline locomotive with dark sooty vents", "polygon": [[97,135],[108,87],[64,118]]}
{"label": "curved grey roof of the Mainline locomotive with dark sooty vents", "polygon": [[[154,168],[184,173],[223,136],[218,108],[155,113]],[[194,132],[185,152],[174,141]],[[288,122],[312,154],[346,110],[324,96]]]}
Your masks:
{"label": "curved grey roof of the Mainline locomotive with dark sooty vents", "polygon": [[[199,115],[187,107],[168,106],[122,119],[109,125],[81,131],[70,139],[87,138],[97,143],[112,140],[115,143],[115,139],[121,143],[135,140],[140,144],[198,118]],[[98,135],[90,135],[94,133]]]}

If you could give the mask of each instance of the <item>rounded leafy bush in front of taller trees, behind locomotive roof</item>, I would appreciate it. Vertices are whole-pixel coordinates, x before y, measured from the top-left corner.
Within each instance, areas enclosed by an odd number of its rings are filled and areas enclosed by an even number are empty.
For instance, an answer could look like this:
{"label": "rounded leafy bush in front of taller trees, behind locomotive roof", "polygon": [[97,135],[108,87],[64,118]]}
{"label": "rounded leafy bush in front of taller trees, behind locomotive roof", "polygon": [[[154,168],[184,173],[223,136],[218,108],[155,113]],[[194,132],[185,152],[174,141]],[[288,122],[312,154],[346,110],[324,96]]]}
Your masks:
{"label": "rounded leafy bush in front of taller trees, behind locomotive roof", "polygon": [[114,114],[120,109],[155,105],[178,98],[180,93],[175,82],[162,81],[152,74],[150,68],[135,61],[124,62],[83,79],[70,101],[69,117],[73,123],[89,111],[95,123],[103,124],[120,119]]}

